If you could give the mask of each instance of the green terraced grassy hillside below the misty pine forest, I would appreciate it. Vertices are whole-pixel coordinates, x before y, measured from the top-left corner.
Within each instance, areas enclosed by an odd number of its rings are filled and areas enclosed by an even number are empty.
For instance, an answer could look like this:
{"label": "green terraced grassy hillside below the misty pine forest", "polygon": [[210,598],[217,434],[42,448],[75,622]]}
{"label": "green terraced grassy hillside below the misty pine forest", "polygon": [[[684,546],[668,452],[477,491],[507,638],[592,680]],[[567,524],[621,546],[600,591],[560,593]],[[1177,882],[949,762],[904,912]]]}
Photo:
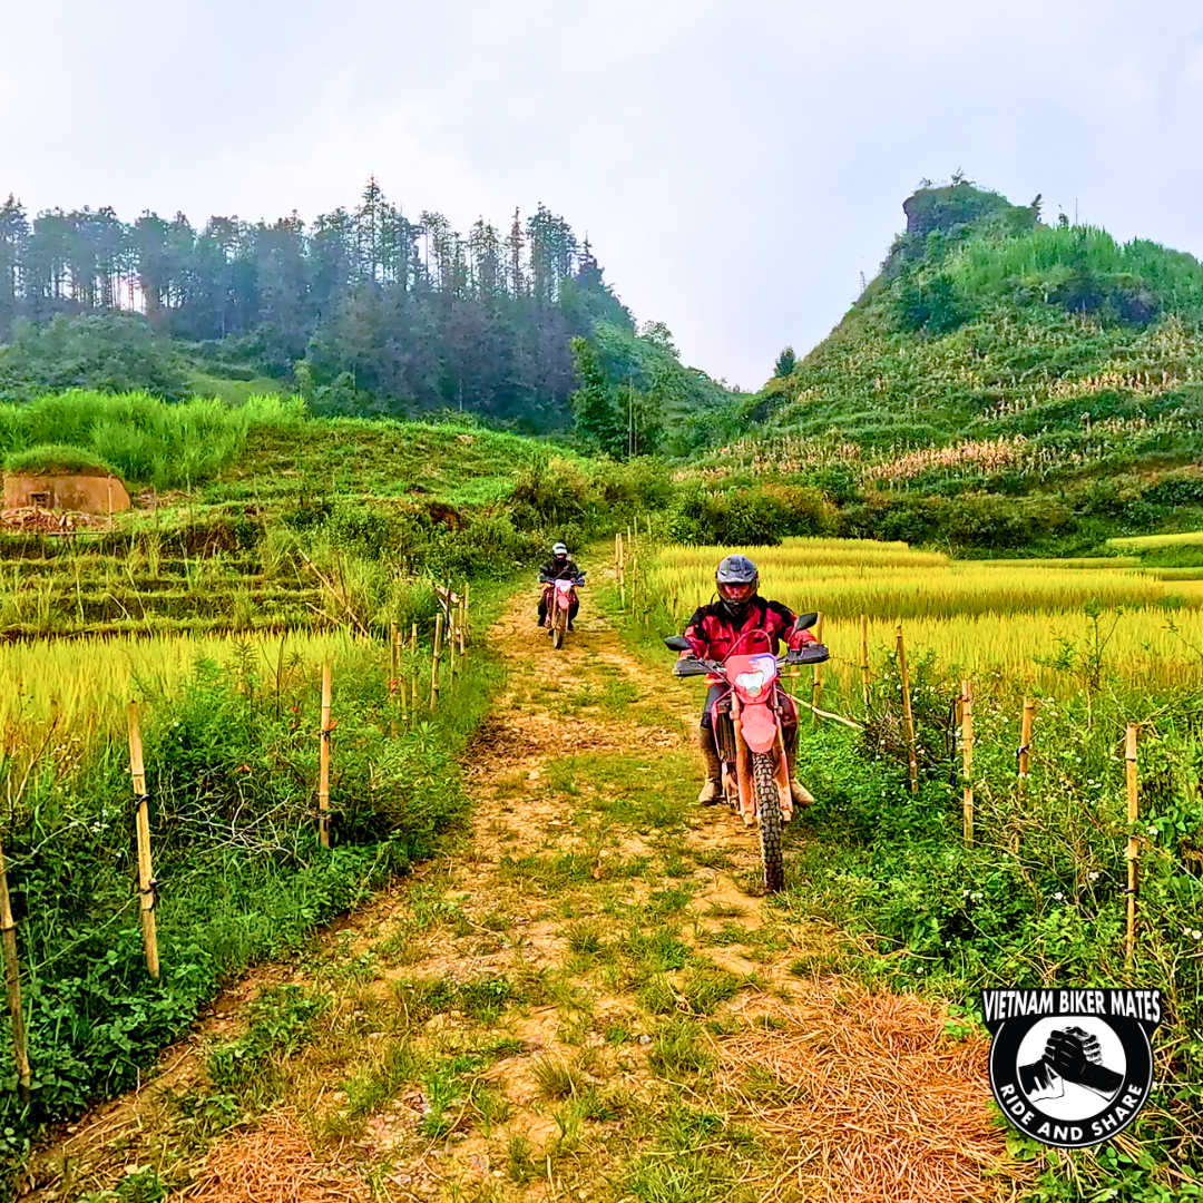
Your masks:
{"label": "green terraced grassy hillside below the misty pine forest", "polygon": [[660,505],[651,462],[464,422],[314,417],[297,401],[168,404],[75,391],[0,404],[7,464],[102,463],[135,509],[0,527],[0,633],[409,629],[458,588]]}

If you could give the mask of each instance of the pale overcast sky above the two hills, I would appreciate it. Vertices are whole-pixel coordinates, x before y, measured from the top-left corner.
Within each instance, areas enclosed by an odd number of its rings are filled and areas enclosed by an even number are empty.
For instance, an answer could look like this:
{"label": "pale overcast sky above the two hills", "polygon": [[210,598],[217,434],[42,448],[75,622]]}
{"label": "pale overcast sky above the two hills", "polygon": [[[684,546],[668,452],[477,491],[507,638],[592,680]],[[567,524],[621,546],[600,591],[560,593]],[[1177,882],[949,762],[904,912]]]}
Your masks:
{"label": "pale overcast sky above the two hills", "polygon": [[1203,10],[1145,0],[0,0],[0,194],[306,219],[544,202],[745,389],[921,177],[1203,251]]}

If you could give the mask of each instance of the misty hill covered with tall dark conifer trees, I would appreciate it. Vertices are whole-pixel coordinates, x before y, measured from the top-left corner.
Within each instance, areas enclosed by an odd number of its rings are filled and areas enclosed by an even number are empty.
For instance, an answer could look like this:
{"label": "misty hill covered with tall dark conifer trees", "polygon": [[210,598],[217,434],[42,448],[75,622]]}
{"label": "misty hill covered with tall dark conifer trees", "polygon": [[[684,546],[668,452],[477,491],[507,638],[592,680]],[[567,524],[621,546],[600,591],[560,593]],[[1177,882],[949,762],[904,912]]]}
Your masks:
{"label": "misty hill covered with tall dark conifer trees", "polygon": [[407,215],[375,180],[309,225],[0,207],[0,399],[70,386],[178,398],[200,366],[283,381],[318,413],[448,408],[544,432],[571,425],[576,337],[646,395],[627,398],[646,427],[629,442],[652,450],[665,413],[722,390],[672,354],[674,387],[657,391],[665,339],[651,328],[636,333],[588,238],[541,205],[505,232],[480,219],[467,235],[439,213]]}

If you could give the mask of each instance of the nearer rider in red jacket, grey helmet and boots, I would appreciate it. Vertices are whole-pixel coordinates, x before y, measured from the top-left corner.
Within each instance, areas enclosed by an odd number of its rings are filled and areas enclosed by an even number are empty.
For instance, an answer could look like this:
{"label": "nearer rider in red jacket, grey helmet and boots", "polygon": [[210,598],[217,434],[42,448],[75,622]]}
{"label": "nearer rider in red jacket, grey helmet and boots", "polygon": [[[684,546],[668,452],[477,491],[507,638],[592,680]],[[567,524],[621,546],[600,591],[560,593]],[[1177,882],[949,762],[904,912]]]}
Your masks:
{"label": "nearer rider in red jacket, grey helmet and boots", "polygon": [[[736,639],[746,632],[763,630],[765,638],[748,635],[739,645],[739,654],[778,651],[778,640],[784,640],[790,650],[818,640],[808,630],[794,630],[796,616],[780,602],[769,602],[759,597],[760,574],[747,556],[727,556],[715,573],[718,588],[718,602],[701,606],[689,620],[685,638],[693,647],[693,654],[706,659],[723,660]],[[759,645],[759,646],[758,646]],[[683,652],[682,656],[688,656]],[[711,706],[725,691],[727,685],[712,685],[706,692],[706,704],[701,711],[700,747],[706,761],[706,782],[698,794],[703,806],[718,801],[722,790],[722,761],[715,743],[715,729]],[[810,790],[794,776],[794,764],[798,757],[798,707],[793,699],[776,685],[777,700],[781,704],[781,735],[786,746],[786,763],[789,766],[789,790],[794,802],[810,806],[814,801]]]}

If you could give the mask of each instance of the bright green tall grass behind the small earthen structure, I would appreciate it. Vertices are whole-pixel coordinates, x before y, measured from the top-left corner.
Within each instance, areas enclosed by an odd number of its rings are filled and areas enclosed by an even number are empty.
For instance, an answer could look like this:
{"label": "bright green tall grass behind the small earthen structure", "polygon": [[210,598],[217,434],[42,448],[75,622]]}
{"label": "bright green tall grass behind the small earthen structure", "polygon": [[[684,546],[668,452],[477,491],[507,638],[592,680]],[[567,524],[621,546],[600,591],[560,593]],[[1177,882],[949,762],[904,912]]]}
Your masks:
{"label": "bright green tall grass behind the small earthen structure", "polygon": [[230,463],[254,427],[294,425],[302,413],[300,402],[280,397],[251,397],[231,409],[215,399],[172,404],[144,392],[72,391],[0,404],[0,457],[47,444],[73,446],[129,481],[173,488]]}

